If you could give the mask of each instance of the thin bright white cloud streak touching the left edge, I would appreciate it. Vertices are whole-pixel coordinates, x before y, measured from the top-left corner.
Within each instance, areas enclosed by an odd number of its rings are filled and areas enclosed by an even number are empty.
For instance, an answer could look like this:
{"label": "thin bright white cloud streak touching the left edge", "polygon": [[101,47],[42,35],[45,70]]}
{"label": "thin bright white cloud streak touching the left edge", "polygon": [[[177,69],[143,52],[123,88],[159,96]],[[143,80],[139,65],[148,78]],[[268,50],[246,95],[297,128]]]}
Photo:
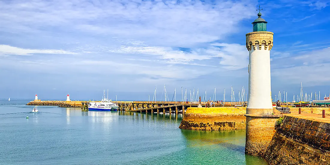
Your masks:
{"label": "thin bright white cloud streak touching the left edge", "polygon": [[53,49],[22,49],[9,45],[0,45],[0,55],[32,55],[32,54],[75,54],[74,52]]}

